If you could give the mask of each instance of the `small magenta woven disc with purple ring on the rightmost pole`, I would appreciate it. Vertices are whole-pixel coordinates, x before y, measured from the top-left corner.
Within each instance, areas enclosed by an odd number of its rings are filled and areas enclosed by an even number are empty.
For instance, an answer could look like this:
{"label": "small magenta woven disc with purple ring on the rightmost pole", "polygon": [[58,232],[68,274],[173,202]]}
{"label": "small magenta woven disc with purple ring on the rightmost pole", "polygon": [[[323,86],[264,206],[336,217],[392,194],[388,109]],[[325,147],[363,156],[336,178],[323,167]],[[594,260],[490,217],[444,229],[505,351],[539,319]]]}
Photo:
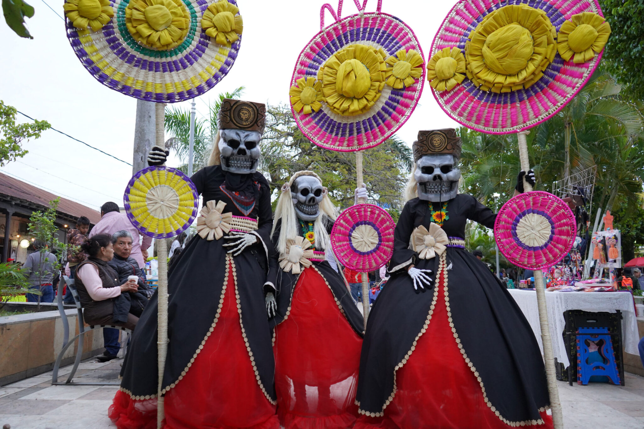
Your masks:
{"label": "small magenta woven disc with purple ring on the rightmost pole", "polygon": [[497,214],[494,238],[505,257],[522,268],[543,269],[573,248],[577,224],[564,201],[543,191],[511,198]]}

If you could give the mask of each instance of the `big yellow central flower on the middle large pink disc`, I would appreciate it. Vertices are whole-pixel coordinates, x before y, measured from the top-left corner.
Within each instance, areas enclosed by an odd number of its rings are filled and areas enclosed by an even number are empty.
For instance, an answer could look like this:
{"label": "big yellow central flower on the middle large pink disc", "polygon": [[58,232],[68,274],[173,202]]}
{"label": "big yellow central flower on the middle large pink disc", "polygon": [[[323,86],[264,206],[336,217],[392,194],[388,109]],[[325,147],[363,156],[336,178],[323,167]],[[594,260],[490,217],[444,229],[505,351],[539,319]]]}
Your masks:
{"label": "big yellow central flower on the middle large pink disc", "polygon": [[317,73],[329,109],[343,116],[371,109],[384,88],[385,56],[382,48],[357,43],[330,57]]}

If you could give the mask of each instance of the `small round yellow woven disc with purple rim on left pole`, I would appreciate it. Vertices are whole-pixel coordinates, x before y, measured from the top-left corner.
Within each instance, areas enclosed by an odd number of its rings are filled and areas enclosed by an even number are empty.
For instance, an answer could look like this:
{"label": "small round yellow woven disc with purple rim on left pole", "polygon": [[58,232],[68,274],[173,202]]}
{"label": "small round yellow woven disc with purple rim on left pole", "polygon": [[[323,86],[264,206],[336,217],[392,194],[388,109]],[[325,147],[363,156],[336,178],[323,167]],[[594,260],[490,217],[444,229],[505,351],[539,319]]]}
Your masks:
{"label": "small round yellow woven disc with purple rim on left pole", "polygon": [[155,239],[175,237],[197,217],[199,195],[180,170],[147,167],[129,180],[123,196],[129,221]]}

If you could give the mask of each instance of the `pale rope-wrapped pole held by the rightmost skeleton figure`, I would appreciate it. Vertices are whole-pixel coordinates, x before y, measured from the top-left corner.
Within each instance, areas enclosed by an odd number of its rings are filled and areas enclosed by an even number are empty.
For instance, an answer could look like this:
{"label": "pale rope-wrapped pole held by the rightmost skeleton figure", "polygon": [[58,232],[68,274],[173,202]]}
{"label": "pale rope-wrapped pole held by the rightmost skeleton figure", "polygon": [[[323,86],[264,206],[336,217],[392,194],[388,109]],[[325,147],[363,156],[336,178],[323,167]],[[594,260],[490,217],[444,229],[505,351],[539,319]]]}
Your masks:
{"label": "pale rope-wrapped pole held by the rightmost skeleton figure", "polygon": [[[527,153],[526,134],[529,134],[529,131],[520,131],[516,137],[519,143],[521,169],[527,172],[530,169],[530,160]],[[532,190],[532,186],[527,183],[525,178],[524,190],[526,192]],[[545,377],[548,383],[548,393],[550,394],[550,408],[553,411],[554,429],[563,429],[564,415],[562,414],[562,405],[559,401],[559,390],[554,372],[553,342],[550,338],[550,323],[545,303],[544,273],[540,269],[535,269],[535,291],[536,305],[539,309],[539,322],[541,325],[541,342],[544,345]]]}

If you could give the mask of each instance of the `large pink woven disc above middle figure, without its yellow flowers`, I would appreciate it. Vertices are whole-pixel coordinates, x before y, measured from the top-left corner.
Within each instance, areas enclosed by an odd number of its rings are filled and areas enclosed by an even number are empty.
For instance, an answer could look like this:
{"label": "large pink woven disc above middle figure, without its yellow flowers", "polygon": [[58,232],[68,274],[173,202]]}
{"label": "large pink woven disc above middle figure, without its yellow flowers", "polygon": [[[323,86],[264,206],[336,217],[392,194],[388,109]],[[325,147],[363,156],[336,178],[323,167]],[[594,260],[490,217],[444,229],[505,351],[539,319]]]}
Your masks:
{"label": "large pink woven disc above middle figure, without its yellow flowers", "polygon": [[[330,57],[351,44],[382,48],[387,58],[399,50],[415,50],[421,58],[423,55],[412,29],[400,19],[379,12],[362,17],[351,15],[331,24],[308,42],[299,54],[291,86],[299,78],[316,78]],[[318,146],[340,152],[368,149],[392,136],[408,120],[421,97],[425,75],[422,64],[422,75],[412,85],[401,89],[385,85],[366,113],[343,116],[322,102],[322,108],[310,114],[298,113],[291,107],[293,117],[305,136]]]}

